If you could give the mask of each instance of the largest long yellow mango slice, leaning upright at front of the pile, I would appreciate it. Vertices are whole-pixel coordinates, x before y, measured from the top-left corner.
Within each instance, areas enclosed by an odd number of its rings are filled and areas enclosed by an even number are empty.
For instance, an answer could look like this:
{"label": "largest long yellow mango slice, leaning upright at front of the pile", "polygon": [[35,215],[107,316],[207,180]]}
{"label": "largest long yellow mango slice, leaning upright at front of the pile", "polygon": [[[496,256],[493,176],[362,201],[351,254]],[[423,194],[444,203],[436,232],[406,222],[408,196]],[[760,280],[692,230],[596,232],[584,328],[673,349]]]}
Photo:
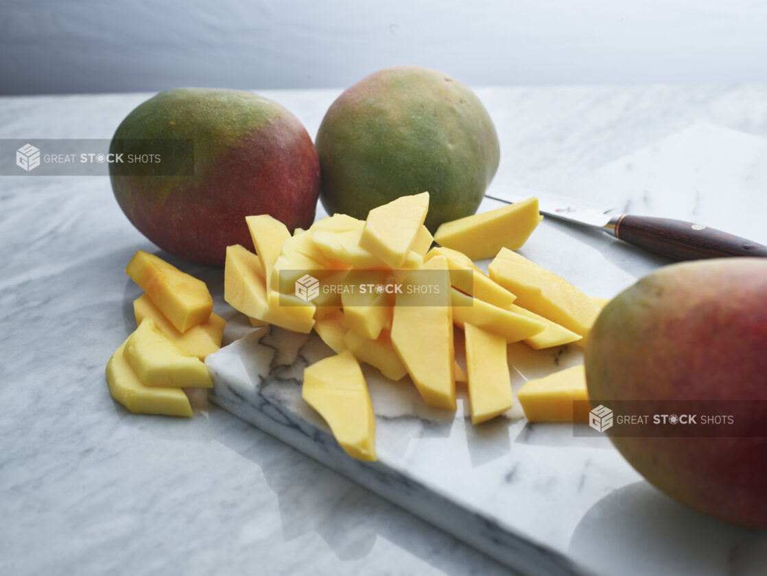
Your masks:
{"label": "largest long yellow mango slice, leaning upright at front of the pile", "polygon": [[437,280],[439,296],[431,306],[413,306],[418,296],[409,293],[407,280],[397,294],[391,323],[391,342],[413,379],[423,401],[429,406],[456,409],[455,350],[453,349],[453,306],[449,300],[450,278],[447,260],[433,257],[425,270],[444,270]]}

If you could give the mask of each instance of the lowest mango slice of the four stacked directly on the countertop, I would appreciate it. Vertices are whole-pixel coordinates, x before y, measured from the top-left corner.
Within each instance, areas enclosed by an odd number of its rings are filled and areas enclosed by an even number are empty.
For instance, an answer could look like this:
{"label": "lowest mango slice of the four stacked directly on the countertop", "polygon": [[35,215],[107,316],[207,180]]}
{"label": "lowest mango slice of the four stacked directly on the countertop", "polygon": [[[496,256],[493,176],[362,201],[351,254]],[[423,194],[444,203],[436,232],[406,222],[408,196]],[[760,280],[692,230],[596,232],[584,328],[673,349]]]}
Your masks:
{"label": "lowest mango slice of the four stacked directly on the countertop", "polygon": [[141,383],[125,359],[125,343],[107,362],[107,386],[112,398],[136,414],[192,417],[192,406],[180,388],[153,388]]}

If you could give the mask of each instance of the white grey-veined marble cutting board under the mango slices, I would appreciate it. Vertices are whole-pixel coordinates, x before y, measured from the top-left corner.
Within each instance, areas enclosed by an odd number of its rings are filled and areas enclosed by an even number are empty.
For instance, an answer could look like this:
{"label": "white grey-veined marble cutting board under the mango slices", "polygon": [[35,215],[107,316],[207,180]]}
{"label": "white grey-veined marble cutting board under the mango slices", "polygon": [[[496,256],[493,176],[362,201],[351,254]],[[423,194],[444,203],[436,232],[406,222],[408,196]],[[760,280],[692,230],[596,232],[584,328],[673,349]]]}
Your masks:
{"label": "white grey-veined marble cutting board under the mango slices", "polygon": [[[552,191],[767,243],[767,140],[710,124]],[[486,200],[480,210],[495,206]],[[605,297],[667,263],[551,219],[520,252]],[[330,354],[314,334],[255,330],[206,360],[212,401],[525,574],[764,573],[767,534],[676,504],[607,439],[575,438],[569,425],[528,424],[518,406],[473,427],[460,384],[459,408],[446,414],[424,406],[407,378],[390,382],[365,367],[379,460],[347,457],[301,399],[304,367]],[[578,346],[535,352],[519,343],[509,346],[509,362],[516,390],[581,363],[582,355]]]}

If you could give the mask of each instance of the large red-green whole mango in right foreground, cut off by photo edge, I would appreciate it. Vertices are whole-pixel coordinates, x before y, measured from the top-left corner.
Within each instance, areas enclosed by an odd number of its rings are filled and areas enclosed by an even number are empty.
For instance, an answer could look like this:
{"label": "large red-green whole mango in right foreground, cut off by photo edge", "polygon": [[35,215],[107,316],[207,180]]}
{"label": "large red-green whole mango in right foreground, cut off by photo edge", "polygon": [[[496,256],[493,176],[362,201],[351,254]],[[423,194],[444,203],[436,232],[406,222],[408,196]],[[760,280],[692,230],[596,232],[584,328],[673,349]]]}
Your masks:
{"label": "large red-green whole mango in right foreground, cut off by photo edge", "polygon": [[[699,260],[645,276],[597,318],[585,366],[597,402],[767,400],[767,260]],[[676,500],[767,528],[767,438],[611,440]]]}

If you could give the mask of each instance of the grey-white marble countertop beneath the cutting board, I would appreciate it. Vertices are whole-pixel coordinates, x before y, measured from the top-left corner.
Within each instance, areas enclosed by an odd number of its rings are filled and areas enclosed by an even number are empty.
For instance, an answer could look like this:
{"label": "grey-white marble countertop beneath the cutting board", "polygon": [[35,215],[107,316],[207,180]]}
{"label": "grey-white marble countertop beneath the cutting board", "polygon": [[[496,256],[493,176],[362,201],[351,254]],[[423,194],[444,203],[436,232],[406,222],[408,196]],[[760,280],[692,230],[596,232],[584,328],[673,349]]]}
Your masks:
{"label": "grey-white marble countertop beneath the cutting board", "polygon": [[[261,93],[314,135],[339,91]],[[765,85],[477,94],[502,144],[491,190],[583,186],[695,121],[767,137]],[[110,138],[149,95],[0,98],[0,138]],[[216,406],[118,406],[104,366],[139,293],[124,266],[155,248],[106,177],[3,176],[0,207],[0,573],[509,574]],[[220,271],[194,272],[220,293]]]}

